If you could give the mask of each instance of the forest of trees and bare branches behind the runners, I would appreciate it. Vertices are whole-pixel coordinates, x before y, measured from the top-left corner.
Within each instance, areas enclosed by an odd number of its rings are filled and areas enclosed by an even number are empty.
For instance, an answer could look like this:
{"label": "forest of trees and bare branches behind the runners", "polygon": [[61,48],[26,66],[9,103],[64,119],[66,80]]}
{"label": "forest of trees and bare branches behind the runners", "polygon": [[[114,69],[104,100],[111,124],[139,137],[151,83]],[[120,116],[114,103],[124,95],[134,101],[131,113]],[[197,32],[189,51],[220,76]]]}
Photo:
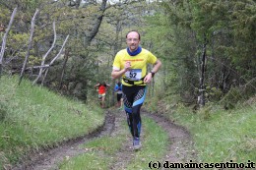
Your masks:
{"label": "forest of trees and bare branches behind the runners", "polygon": [[230,110],[255,98],[253,0],[0,0],[0,9],[1,76],[19,75],[20,84],[26,77],[90,104],[96,83],[113,87],[113,58],[137,29],[163,63],[148,95],[165,107],[205,109],[207,117],[212,104]]}

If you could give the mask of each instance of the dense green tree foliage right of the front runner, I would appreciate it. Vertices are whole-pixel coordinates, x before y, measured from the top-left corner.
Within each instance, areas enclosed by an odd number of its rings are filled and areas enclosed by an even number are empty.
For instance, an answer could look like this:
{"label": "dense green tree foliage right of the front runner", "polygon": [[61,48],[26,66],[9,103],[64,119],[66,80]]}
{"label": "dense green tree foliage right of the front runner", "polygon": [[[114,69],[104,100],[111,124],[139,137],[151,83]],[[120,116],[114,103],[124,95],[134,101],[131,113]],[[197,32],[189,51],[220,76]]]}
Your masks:
{"label": "dense green tree foliage right of the front runner", "polygon": [[255,1],[182,0],[161,4],[163,11],[147,18],[152,26],[147,31],[152,35],[148,40],[154,41],[158,56],[164,60],[164,70],[171,70],[164,78],[173,81],[167,83],[180,92],[196,94],[203,44],[207,45],[206,85],[222,93],[229,90],[232,80],[242,76],[248,82],[255,77]]}

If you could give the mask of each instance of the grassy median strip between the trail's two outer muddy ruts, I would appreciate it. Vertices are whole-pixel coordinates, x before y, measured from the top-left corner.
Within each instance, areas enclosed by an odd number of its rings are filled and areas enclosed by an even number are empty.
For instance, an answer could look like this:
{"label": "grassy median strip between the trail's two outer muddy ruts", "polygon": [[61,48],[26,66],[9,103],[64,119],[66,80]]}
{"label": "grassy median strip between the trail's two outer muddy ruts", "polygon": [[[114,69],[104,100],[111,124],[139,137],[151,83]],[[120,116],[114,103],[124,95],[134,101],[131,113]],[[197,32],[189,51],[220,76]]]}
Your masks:
{"label": "grassy median strip between the trail's two outer muddy ruts", "polygon": [[[166,133],[151,119],[143,117],[143,147],[140,151],[133,153],[132,160],[127,160],[125,169],[149,169],[149,162],[160,160],[164,155],[167,146]],[[124,131],[116,137],[103,137],[88,142],[84,149],[85,154],[65,160],[60,169],[109,169],[111,164],[116,162],[116,153],[121,149],[122,142],[125,142],[128,133],[126,122],[123,121]],[[131,138],[131,137],[130,137]]]}

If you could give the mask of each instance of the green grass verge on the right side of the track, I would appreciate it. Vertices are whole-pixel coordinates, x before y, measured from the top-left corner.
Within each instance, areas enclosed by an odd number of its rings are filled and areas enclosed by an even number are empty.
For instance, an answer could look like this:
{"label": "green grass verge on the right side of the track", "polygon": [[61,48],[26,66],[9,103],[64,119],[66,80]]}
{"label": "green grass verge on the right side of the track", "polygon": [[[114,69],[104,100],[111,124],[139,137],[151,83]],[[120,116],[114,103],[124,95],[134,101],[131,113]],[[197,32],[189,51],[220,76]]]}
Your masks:
{"label": "green grass verge on the right side of the track", "polygon": [[225,111],[218,106],[168,115],[191,131],[202,162],[256,162],[256,107]]}

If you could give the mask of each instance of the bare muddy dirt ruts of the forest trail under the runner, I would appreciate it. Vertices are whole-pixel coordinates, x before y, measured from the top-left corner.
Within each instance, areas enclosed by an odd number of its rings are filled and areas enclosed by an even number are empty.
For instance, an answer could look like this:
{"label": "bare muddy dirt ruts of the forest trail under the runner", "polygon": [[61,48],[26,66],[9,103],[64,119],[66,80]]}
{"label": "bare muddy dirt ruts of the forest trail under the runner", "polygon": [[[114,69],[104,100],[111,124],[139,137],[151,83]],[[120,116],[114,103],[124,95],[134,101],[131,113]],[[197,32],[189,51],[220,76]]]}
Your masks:
{"label": "bare muddy dirt ruts of the forest trail under the runner", "polygon": [[[102,136],[115,136],[118,134],[118,130],[120,130],[118,127],[121,126],[121,121],[126,119],[124,111],[121,112],[122,113],[119,111],[119,113],[116,114],[116,110],[109,109],[106,111],[105,124],[95,133],[74,141],[62,143],[56,148],[34,153],[29,159],[24,161],[23,164],[13,168],[13,170],[58,169],[58,163],[62,160],[85,153],[87,151],[80,148],[80,144],[89,142]],[[195,156],[190,135],[184,128],[177,126],[158,115],[153,115],[147,113],[146,111],[143,111],[142,114],[155,120],[168,134],[168,154],[162,158],[162,162],[187,162],[192,158],[192,156]],[[125,169],[126,165],[129,163],[129,160],[131,160],[131,157],[134,154],[134,151],[130,147],[130,142],[123,143],[124,145],[122,149],[119,150],[119,152],[117,152],[115,155],[117,161],[110,167],[112,170]]]}

